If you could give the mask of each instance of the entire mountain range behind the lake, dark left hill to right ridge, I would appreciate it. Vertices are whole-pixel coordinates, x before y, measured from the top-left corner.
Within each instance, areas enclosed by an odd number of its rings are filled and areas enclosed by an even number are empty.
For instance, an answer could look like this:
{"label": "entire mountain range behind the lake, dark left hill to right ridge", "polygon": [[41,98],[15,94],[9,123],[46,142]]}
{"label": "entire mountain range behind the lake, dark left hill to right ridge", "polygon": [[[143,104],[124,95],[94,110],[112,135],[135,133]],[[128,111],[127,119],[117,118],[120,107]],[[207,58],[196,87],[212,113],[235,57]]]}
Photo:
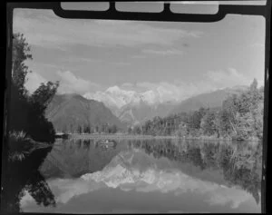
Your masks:
{"label": "entire mountain range behind the lake, dark left hill to right ridge", "polygon": [[56,94],[46,109],[46,117],[53,122],[55,131],[77,131],[79,126],[115,124],[121,130],[172,113],[197,111],[200,107],[220,107],[232,93],[241,93],[247,86],[236,86],[209,93],[200,93],[181,102],[162,97],[160,91],[136,93],[118,86],[105,92]]}

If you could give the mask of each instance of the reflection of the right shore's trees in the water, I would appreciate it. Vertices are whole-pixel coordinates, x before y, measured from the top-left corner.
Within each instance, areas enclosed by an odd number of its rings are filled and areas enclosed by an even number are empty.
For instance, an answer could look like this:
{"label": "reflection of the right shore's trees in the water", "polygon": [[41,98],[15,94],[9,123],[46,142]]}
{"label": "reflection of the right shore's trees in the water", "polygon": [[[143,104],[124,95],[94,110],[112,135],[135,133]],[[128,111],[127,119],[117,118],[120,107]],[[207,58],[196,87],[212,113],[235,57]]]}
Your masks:
{"label": "reflection of the right shore's trees in the water", "polygon": [[221,169],[225,180],[240,186],[252,194],[257,204],[261,189],[261,143],[257,146],[239,143],[194,144],[182,142],[179,145],[167,141],[134,142],[133,147],[141,148],[154,158],[166,157],[170,161],[191,162],[200,170],[214,168]]}

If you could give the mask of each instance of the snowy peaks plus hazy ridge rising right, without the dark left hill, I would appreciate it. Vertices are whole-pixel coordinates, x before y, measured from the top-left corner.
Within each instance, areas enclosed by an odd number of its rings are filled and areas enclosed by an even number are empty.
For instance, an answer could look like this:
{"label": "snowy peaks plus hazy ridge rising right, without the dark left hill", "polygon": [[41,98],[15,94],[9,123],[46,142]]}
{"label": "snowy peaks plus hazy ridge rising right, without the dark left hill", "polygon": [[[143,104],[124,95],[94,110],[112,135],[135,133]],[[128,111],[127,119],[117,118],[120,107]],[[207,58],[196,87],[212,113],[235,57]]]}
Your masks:
{"label": "snowy peaks plus hazy ridge rising right, without the dark left hill", "polygon": [[127,125],[134,125],[152,119],[154,116],[165,117],[171,113],[199,110],[200,107],[219,107],[232,93],[241,93],[247,86],[236,86],[209,93],[200,93],[183,101],[166,98],[160,90],[136,93],[125,91],[118,86],[105,92],[85,93],[83,97],[102,102],[112,113]]}

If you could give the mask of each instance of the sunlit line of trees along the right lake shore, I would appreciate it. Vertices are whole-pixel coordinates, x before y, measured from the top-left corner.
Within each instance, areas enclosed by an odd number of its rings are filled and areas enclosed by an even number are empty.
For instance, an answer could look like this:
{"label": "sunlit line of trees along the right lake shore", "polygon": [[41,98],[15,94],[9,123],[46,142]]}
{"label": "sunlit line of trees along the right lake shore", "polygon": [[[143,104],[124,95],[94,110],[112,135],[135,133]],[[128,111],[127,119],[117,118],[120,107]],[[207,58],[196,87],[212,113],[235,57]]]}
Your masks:
{"label": "sunlit line of trees along the right lake shore", "polygon": [[130,127],[131,134],[211,137],[238,141],[261,140],[263,136],[264,87],[257,80],[240,94],[229,95],[218,108],[199,108],[167,117],[154,117]]}

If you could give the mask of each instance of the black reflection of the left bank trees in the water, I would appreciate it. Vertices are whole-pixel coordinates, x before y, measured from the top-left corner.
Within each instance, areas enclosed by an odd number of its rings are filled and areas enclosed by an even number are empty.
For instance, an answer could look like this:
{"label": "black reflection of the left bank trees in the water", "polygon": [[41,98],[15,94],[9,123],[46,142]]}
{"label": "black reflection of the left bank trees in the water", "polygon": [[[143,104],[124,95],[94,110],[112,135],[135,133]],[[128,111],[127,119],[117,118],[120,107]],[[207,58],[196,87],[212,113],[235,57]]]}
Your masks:
{"label": "black reflection of the left bank trees in the water", "polygon": [[55,206],[55,200],[44,177],[38,171],[47,153],[52,148],[39,149],[32,152],[23,161],[10,161],[3,183],[1,210],[4,212],[19,212],[20,200],[24,191],[28,191],[37,204]]}

